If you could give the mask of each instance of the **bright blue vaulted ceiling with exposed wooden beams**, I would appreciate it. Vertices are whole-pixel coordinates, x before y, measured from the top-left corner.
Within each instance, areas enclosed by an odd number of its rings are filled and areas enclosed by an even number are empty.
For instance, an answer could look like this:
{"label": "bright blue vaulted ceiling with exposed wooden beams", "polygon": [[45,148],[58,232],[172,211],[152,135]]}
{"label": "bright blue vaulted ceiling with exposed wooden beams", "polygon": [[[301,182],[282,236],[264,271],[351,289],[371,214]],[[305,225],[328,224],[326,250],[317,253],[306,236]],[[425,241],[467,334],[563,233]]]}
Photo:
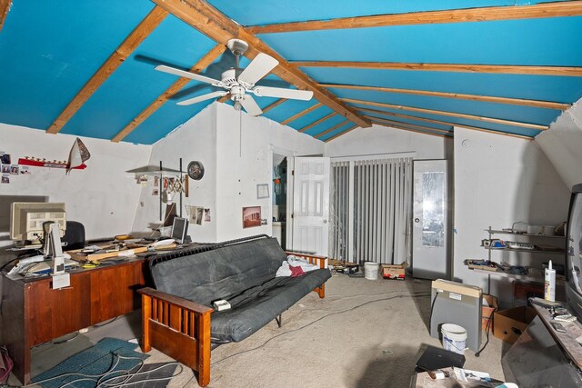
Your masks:
{"label": "bright blue vaulted ceiling with exposed wooden beams", "polygon": [[[231,38],[279,65],[269,119],[322,141],[379,124],[533,138],[582,97],[582,1],[0,0],[0,123],[153,144],[214,100]],[[225,98],[221,102],[232,104]]]}

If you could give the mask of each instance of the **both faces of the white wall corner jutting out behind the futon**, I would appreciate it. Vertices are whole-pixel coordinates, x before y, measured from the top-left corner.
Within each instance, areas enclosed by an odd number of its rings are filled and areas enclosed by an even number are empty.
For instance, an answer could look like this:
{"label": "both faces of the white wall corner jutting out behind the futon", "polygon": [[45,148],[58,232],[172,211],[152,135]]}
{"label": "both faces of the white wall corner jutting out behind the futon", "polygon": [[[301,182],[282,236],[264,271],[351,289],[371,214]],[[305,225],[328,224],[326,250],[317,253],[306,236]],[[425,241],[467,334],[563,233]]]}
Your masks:
{"label": "both faces of the white wall corner jutting out behind the futon", "polygon": [[[191,160],[205,165],[204,177],[190,180],[190,197],[184,204],[210,208],[212,222],[191,225],[188,234],[194,241],[225,241],[271,234],[272,198],[257,199],[256,184],[270,186],[272,182],[273,149],[292,155],[323,154],[324,144],[264,117],[239,114],[232,106],[216,103],[154,144],[149,164],[158,165],[161,160],[165,166],[177,169],[182,157],[185,169]],[[152,189],[148,182],[142,191],[136,231],[159,224],[158,198],[152,195]],[[244,206],[262,206],[261,216],[267,224],[243,229]]]}

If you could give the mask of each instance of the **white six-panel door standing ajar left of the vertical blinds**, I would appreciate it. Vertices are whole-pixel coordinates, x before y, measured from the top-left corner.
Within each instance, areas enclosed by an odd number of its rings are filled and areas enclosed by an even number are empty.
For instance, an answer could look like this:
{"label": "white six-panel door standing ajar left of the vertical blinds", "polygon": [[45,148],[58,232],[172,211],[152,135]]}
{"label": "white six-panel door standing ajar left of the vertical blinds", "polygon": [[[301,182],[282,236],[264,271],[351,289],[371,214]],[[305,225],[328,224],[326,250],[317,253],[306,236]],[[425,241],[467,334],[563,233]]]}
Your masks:
{"label": "white six-panel door standing ajar left of the vertical blinds", "polygon": [[296,252],[327,255],[329,158],[296,157],[293,195],[293,239]]}

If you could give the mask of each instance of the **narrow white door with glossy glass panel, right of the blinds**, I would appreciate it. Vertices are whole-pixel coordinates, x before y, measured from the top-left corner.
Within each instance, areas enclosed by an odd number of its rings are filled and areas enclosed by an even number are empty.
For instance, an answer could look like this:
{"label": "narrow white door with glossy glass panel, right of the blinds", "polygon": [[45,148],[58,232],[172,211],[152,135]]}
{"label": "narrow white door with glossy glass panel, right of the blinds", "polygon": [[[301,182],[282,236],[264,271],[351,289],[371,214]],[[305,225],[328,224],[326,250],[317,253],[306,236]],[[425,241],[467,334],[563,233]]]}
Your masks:
{"label": "narrow white door with glossy glass panel, right of the blinds", "polygon": [[412,274],[448,278],[448,174],[446,160],[415,161]]}

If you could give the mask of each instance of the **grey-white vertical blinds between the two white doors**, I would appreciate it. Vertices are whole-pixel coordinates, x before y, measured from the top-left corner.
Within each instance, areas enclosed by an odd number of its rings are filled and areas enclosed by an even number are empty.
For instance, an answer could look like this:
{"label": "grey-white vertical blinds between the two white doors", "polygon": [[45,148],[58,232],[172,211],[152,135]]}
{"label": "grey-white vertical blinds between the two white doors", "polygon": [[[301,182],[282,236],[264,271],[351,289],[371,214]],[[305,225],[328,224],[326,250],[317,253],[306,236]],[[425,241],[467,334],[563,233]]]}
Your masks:
{"label": "grey-white vertical blinds between the two white doors", "polygon": [[[353,208],[349,171],[354,169]],[[332,164],[331,257],[352,263],[408,262],[411,243],[412,158]],[[352,220],[352,244],[348,223]]]}

